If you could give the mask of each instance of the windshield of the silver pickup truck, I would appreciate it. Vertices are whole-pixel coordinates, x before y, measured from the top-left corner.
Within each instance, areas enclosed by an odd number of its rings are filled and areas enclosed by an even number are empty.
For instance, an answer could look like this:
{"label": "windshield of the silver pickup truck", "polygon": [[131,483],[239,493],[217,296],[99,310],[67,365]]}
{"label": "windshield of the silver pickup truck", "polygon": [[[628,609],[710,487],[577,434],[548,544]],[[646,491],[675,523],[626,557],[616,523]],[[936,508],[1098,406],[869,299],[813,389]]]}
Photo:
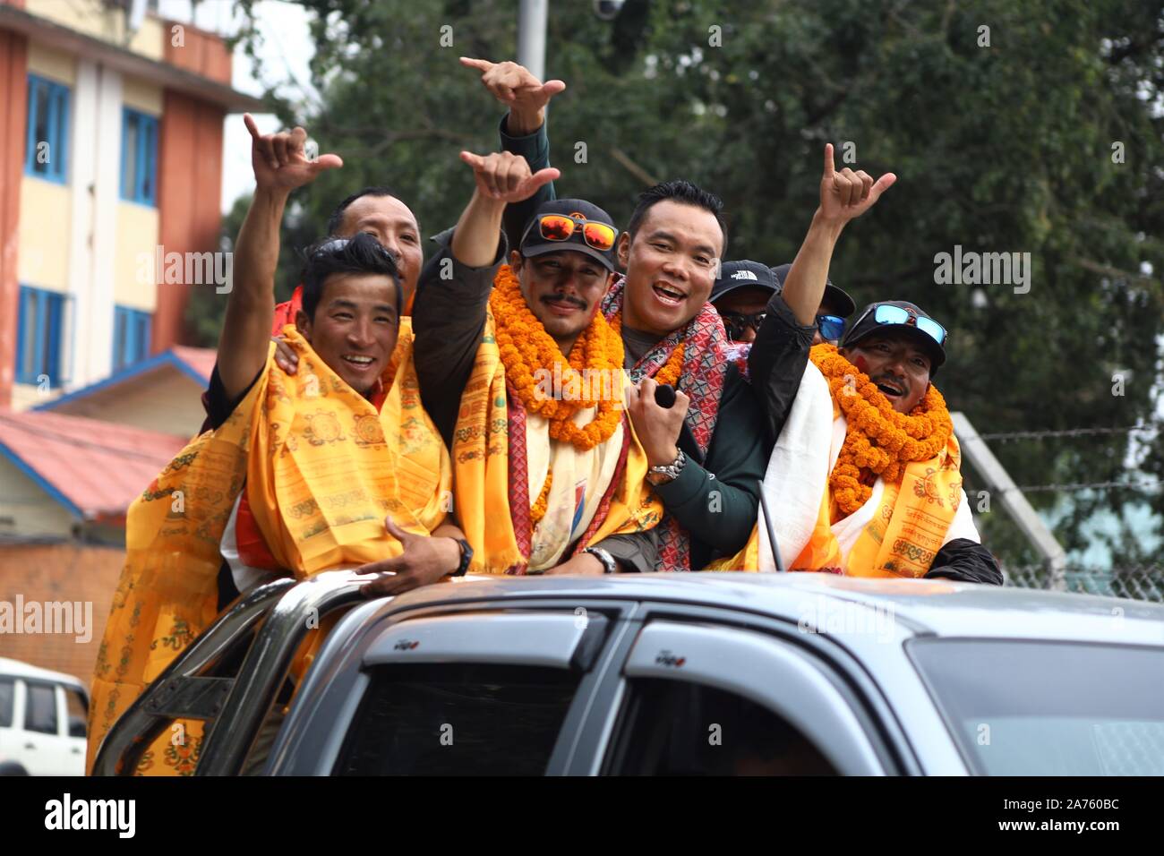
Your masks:
{"label": "windshield of the silver pickup truck", "polygon": [[1164,776],[1164,649],[916,639],[907,648],[972,769]]}

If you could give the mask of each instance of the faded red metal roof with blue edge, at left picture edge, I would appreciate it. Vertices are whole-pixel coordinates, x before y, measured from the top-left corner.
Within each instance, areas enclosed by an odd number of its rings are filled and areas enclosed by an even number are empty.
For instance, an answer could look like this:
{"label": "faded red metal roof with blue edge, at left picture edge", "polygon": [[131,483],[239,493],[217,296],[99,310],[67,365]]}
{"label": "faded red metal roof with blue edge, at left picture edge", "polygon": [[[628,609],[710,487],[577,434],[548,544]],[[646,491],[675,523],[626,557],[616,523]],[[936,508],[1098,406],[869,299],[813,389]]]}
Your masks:
{"label": "faded red metal roof with blue edge, at left picture edge", "polygon": [[90,519],[123,515],[186,443],[79,416],[0,409],[0,455]]}

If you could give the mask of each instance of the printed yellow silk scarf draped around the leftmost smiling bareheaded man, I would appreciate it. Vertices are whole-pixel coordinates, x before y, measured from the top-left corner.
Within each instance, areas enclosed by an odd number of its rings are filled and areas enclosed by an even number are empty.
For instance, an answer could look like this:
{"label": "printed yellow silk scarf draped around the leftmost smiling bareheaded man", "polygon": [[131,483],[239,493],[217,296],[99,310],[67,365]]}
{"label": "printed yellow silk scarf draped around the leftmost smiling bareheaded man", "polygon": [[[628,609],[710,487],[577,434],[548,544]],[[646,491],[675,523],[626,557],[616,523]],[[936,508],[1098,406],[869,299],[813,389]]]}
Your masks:
{"label": "printed yellow silk scarf draped around the leftmost smiling bareheaded man", "polygon": [[[379,412],[293,326],[283,335],[299,352],[298,372],[275,366],[272,344],[227,420],[192,440],[129,508],[126,566],[93,680],[90,769],[118,717],[217,617],[219,546],[244,484],[263,539],[296,579],[398,556],[384,531],[389,512],[418,533],[445,519],[452,469],[420,405],[410,319],[381,379],[389,394]],[[300,649],[293,671],[313,648]],[[136,772],[190,774],[201,740],[201,722],[175,723]]]}

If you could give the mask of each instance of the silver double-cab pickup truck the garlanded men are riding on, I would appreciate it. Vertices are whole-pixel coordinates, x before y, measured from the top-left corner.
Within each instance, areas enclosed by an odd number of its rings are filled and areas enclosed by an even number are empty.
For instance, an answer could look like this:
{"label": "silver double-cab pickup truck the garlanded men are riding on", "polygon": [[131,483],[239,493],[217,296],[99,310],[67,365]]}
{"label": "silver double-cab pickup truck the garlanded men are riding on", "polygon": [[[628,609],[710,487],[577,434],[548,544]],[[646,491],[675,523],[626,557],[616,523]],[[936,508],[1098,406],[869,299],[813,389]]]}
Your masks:
{"label": "silver double-cab pickup truck the garlanded men are riding on", "polygon": [[[362,585],[241,599],[98,771],[132,770],[180,714],[213,721],[200,774],[243,770],[264,720],[281,776],[1164,774],[1164,606],[804,573]],[[343,608],[268,716],[306,618]]]}

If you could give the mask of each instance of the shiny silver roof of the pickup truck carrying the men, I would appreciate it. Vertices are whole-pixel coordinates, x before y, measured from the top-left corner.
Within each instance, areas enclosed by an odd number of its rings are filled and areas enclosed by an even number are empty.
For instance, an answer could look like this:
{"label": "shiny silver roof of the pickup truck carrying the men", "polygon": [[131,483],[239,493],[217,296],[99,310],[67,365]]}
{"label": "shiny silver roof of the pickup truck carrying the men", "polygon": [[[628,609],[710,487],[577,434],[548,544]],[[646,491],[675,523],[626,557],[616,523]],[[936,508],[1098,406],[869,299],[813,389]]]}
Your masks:
{"label": "shiny silver roof of the pickup truck carrying the men", "polygon": [[[801,622],[892,616],[911,635],[1164,646],[1164,604],[949,580],[818,573],[467,576],[396,599],[396,607],[490,600],[610,599],[718,607]],[[516,606],[516,604],[514,604]],[[831,631],[830,631],[831,632]]]}

